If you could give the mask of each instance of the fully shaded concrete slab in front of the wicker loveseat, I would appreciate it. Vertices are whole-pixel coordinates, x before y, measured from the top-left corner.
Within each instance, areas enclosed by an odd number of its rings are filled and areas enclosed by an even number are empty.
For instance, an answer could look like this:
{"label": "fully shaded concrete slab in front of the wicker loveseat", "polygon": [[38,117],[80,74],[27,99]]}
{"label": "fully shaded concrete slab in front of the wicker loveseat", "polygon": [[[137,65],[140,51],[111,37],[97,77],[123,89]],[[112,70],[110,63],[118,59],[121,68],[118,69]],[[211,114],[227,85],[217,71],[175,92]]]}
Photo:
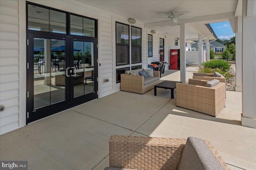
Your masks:
{"label": "fully shaded concrete slab in front of the wicker loveseat", "polygon": [[136,130],[169,100],[154,95],[119,91],[74,107],[72,110],[120,127]]}

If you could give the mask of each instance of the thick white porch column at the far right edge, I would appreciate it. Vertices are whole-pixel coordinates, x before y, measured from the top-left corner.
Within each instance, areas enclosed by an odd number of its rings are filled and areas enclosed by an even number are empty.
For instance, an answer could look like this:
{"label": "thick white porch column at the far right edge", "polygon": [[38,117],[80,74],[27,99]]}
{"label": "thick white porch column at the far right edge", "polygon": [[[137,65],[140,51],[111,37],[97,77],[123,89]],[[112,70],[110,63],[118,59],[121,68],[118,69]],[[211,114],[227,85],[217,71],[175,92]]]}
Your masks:
{"label": "thick white porch column at the far right edge", "polygon": [[256,1],[243,0],[242,126],[256,128]]}

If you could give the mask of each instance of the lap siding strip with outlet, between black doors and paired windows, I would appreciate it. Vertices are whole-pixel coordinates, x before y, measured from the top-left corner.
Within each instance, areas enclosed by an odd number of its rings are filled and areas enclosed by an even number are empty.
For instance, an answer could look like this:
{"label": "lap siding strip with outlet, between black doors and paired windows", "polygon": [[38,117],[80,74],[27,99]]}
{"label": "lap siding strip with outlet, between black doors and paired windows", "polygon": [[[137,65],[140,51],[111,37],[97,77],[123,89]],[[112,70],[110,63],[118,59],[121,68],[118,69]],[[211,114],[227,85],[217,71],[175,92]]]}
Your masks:
{"label": "lap siding strip with outlet, between black doors and paired windows", "polygon": [[[113,90],[112,16],[102,14],[100,19],[101,97]],[[109,79],[103,83],[104,79]]]}

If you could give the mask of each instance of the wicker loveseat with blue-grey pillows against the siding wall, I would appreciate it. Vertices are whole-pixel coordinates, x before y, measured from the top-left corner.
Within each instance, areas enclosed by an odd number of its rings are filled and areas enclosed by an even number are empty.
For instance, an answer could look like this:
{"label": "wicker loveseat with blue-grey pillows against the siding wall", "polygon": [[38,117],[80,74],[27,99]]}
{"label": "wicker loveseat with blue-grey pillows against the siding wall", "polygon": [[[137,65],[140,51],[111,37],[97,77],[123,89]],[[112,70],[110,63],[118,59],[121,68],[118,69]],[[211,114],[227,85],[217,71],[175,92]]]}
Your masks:
{"label": "wicker loveseat with blue-grey pillows against the siding wall", "polygon": [[[153,89],[154,85],[160,83],[160,71],[153,71],[153,77],[144,78],[144,76],[138,73],[142,70],[143,69],[128,70],[125,71],[124,74],[121,74],[120,90],[144,94]],[[136,75],[130,75],[131,72],[136,73]]]}

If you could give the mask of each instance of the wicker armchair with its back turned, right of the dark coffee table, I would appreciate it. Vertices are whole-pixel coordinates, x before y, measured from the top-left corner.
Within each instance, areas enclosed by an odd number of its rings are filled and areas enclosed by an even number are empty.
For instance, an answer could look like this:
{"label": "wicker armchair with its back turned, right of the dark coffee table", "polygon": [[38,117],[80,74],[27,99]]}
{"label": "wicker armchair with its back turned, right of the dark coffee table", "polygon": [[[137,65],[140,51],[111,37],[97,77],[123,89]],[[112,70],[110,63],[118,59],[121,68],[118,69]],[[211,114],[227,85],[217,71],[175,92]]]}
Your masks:
{"label": "wicker armchair with its back turned, right of the dark coffee table", "polygon": [[226,106],[226,84],[205,87],[208,81],[188,79],[176,83],[176,106],[216,116]]}

